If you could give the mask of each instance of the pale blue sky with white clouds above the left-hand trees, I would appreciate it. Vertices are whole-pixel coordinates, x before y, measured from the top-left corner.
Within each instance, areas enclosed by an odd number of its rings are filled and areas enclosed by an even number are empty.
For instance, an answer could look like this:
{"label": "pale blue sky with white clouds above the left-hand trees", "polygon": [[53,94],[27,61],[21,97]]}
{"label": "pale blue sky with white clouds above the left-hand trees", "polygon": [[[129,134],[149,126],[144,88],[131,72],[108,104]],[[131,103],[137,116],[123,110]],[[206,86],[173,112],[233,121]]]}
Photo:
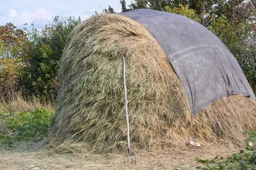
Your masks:
{"label": "pale blue sky with white clouds above the left-hand trees", "polygon": [[44,25],[56,15],[85,20],[109,5],[116,12],[122,10],[119,0],[0,0],[0,26],[10,22],[18,28],[25,23]]}

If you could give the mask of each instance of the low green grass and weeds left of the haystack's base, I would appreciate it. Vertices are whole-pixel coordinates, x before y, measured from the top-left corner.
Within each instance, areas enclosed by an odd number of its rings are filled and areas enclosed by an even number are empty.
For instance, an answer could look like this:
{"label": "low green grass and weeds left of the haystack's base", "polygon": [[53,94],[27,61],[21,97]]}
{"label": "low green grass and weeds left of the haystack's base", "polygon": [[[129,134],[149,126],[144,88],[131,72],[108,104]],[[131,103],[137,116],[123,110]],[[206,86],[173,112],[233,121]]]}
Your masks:
{"label": "low green grass and weeds left of the haystack's base", "polygon": [[20,142],[43,139],[49,134],[49,123],[53,114],[53,111],[48,113],[45,108],[36,108],[32,112],[0,112],[0,117],[9,129],[9,133],[0,132],[1,145],[12,147]]}

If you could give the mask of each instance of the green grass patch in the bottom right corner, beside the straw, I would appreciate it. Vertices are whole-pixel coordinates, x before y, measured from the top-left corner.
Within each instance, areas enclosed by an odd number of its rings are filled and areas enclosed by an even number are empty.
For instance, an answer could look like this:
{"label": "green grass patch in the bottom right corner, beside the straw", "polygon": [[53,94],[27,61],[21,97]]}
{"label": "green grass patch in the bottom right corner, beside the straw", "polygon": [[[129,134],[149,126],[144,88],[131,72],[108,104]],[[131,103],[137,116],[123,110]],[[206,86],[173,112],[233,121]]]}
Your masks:
{"label": "green grass patch in the bottom right corner, beside the straw", "polygon": [[246,143],[253,142],[253,147],[248,145],[240,150],[240,153],[233,153],[232,156],[224,159],[216,156],[215,159],[207,160],[196,158],[195,160],[204,163],[205,166],[199,167],[202,170],[256,170],[256,130],[246,131]]}

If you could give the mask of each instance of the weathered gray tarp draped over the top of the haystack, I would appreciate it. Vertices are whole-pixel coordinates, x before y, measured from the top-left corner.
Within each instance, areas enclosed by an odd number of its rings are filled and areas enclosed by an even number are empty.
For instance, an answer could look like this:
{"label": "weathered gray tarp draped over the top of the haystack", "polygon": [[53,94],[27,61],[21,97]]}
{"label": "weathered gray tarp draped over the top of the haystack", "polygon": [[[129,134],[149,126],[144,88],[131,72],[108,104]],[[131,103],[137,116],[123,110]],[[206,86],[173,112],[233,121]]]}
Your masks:
{"label": "weathered gray tarp draped over the top of the haystack", "polygon": [[151,9],[120,14],[143,25],[161,45],[186,91],[192,116],[231,94],[256,99],[233,54],[201,24]]}

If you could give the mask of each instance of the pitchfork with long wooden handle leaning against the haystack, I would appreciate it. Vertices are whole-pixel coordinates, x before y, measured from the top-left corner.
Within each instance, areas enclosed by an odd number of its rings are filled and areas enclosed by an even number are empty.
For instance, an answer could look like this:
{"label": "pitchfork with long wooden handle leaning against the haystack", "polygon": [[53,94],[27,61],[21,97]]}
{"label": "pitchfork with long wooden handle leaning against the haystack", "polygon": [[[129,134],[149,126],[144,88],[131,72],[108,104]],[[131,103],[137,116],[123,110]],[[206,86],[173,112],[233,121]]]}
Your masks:
{"label": "pitchfork with long wooden handle leaning against the haystack", "polygon": [[[127,94],[126,94],[126,85],[125,85],[125,57],[123,57],[123,77],[124,77],[124,89],[125,89],[125,116],[126,116],[126,124],[127,124],[127,147],[128,147],[128,154],[127,161],[129,164],[129,156],[131,156],[131,164],[132,164],[132,156],[134,156],[135,164],[136,164],[136,156],[130,150],[130,133],[129,133],[129,119],[128,119],[128,106],[127,106]],[[125,156],[124,156],[124,163],[125,163]]]}

